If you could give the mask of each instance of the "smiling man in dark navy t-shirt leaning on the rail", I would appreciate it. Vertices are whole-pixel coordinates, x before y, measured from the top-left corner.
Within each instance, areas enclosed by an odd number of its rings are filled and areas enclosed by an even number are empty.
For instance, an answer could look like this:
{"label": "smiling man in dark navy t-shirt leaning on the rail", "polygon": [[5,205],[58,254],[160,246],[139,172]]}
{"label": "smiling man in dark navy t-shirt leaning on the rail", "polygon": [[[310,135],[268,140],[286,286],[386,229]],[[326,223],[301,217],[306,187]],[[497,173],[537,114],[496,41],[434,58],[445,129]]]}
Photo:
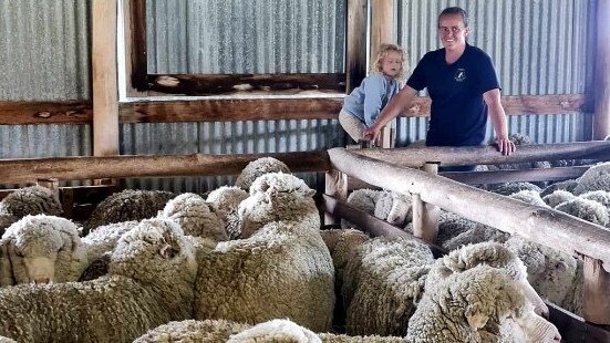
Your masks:
{"label": "smiling man in dark navy t-shirt leaning on the rail", "polygon": [[[487,116],[496,133],[498,150],[515,152],[508,139],[500,86],[492,59],[466,43],[471,33],[466,12],[451,7],[438,15],[443,49],[426,53],[401,92],[392,98],[363,136],[372,139],[381,128],[411,106],[417,91],[427,87],[432,98],[427,146],[474,146],[483,144]],[[467,168],[466,168],[467,169]]]}

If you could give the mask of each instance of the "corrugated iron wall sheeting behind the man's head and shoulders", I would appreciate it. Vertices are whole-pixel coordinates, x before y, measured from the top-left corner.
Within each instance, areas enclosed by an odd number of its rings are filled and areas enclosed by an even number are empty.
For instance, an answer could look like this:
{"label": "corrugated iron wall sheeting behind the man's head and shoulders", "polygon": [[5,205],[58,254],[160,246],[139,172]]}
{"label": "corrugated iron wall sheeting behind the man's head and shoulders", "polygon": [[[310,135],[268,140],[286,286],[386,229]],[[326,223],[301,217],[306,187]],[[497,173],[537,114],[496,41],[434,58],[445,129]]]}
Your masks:
{"label": "corrugated iron wall sheeting behind the man's head and shoulders", "polygon": [[442,48],[438,13],[459,6],[469,14],[468,42],[496,65],[505,95],[580,94],[590,85],[595,56],[590,0],[399,0],[399,44],[410,71]]}

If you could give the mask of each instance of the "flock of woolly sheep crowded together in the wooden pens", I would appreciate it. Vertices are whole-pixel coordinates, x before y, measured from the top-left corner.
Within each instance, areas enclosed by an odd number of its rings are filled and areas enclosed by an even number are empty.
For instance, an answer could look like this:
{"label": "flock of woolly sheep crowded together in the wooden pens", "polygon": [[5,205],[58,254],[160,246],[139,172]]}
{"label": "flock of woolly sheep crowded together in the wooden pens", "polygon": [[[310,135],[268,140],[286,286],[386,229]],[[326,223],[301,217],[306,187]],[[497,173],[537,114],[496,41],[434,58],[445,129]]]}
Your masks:
{"label": "flock of woolly sheep crowded together in the wooden pens", "polygon": [[[609,169],[528,195],[603,201]],[[558,342],[542,298],[579,310],[573,257],[443,214],[452,251],[434,259],[413,239],[320,230],[313,195],[269,157],[206,197],[115,194],[82,225],[20,189],[0,201],[0,342]],[[350,201],[409,230],[405,196]]]}

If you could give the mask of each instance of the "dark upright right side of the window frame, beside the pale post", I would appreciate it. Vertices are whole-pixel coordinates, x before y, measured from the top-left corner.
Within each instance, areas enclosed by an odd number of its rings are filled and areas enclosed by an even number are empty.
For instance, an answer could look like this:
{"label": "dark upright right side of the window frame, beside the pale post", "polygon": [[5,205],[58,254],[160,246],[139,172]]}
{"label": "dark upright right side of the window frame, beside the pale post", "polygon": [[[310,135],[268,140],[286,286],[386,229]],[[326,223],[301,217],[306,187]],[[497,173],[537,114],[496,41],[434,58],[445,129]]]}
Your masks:
{"label": "dark upright right side of the window frame, beside the pale post", "polygon": [[347,93],[366,76],[366,0],[348,0]]}

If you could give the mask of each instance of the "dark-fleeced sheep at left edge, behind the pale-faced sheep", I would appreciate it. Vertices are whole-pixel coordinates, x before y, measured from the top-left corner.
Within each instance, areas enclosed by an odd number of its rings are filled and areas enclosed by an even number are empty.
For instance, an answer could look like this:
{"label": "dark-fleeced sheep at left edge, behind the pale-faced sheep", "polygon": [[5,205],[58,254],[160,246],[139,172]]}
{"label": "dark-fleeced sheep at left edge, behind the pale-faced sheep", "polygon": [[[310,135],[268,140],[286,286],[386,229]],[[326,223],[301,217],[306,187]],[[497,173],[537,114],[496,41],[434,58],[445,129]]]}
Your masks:
{"label": "dark-fleeced sheep at left edge, behind the pale-faced sheep", "polygon": [[60,199],[49,188],[32,186],[18,189],[0,201],[0,215],[25,217],[28,215],[59,216],[63,214]]}

